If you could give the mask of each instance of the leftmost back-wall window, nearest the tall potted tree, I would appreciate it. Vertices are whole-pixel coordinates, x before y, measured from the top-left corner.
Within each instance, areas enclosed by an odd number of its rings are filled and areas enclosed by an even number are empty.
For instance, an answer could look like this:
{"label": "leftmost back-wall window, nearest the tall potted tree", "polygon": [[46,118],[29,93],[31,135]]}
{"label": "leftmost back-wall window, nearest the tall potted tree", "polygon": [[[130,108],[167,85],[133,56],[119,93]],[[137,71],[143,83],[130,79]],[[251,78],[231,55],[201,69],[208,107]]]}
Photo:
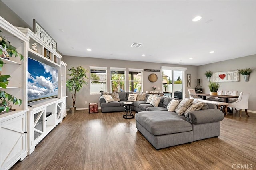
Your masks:
{"label": "leftmost back-wall window, nearest the tall potted tree", "polygon": [[107,91],[107,67],[90,66],[90,94]]}

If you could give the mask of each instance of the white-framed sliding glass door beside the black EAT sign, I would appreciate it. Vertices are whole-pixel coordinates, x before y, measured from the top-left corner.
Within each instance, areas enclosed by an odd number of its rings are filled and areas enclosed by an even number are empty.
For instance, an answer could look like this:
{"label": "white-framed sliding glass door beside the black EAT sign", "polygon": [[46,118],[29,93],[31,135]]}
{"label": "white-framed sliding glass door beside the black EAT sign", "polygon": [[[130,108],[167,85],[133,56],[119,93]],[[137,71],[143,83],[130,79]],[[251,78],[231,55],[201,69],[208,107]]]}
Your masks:
{"label": "white-framed sliding glass door beside the black EAT sign", "polygon": [[[187,68],[183,67],[164,67],[162,66],[162,91],[164,95],[183,99],[185,96],[184,90],[184,75]],[[174,94],[174,95],[173,95]]]}

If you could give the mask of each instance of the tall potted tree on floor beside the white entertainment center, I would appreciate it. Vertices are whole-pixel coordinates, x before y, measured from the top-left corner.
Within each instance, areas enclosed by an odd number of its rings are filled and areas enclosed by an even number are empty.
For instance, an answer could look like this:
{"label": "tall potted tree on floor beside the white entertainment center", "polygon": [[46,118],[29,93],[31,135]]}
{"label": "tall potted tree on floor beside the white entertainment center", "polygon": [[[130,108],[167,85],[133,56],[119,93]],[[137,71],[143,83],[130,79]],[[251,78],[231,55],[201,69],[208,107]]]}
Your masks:
{"label": "tall potted tree on floor beside the white entertainment center", "polygon": [[68,91],[71,92],[73,99],[73,105],[72,107],[69,107],[69,113],[74,113],[76,111],[76,92],[80,91],[83,85],[87,85],[85,79],[88,79],[88,77],[86,75],[87,70],[82,66],[76,68],[71,67],[68,71],[71,71],[71,73],[68,74],[71,78],[66,82],[66,86]]}

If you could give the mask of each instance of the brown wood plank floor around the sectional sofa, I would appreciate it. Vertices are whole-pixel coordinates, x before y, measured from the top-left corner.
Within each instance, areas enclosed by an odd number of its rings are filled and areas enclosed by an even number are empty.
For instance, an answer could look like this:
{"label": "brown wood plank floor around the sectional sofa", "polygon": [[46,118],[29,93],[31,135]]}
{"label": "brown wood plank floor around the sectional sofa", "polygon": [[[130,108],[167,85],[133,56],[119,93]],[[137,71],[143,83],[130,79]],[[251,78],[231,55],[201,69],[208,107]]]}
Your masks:
{"label": "brown wood plank floor around the sectional sofa", "polygon": [[[256,114],[228,114],[220,136],[156,150],[123,112],[68,113],[13,170],[256,169]],[[239,167],[239,168],[238,168]]]}

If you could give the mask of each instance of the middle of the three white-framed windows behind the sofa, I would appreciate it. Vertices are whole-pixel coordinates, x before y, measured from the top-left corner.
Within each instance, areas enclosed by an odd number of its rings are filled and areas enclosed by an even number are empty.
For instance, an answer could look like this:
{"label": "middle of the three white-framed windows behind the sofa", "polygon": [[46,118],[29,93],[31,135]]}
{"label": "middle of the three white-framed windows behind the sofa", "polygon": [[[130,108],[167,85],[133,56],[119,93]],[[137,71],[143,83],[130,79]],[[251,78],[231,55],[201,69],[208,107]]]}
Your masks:
{"label": "middle of the three white-framed windows behind the sofa", "polygon": [[125,91],[125,68],[110,67],[111,92]]}

